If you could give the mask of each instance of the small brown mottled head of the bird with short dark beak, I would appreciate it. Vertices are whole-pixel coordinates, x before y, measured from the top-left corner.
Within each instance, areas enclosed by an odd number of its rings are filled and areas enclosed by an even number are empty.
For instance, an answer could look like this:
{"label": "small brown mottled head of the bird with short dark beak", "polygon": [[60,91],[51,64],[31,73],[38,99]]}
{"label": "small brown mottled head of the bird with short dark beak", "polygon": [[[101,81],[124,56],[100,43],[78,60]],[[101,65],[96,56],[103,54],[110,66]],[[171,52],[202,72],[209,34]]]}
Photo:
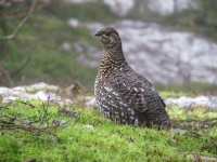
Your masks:
{"label": "small brown mottled head of the bird with short dark beak", "polygon": [[106,49],[122,45],[118,32],[112,27],[102,28],[94,36],[100,39]]}

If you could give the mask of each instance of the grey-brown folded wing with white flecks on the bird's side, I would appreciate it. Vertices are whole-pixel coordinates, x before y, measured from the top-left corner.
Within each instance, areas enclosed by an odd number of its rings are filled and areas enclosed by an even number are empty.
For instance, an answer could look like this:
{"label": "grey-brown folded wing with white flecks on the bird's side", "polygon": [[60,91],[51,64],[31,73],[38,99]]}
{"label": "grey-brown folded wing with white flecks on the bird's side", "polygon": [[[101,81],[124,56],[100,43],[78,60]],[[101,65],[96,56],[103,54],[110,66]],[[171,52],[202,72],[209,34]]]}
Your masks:
{"label": "grey-brown folded wing with white flecks on the bird's side", "polygon": [[[139,76],[141,77],[141,76]],[[111,82],[111,87],[117,93],[117,97],[122,98],[124,104],[137,110],[137,112],[145,112],[152,103],[161,103],[161,108],[165,108],[165,103],[158,96],[157,91],[143,77],[138,76],[116,76]],[[158,107],[158,106],[157,106]]]}

